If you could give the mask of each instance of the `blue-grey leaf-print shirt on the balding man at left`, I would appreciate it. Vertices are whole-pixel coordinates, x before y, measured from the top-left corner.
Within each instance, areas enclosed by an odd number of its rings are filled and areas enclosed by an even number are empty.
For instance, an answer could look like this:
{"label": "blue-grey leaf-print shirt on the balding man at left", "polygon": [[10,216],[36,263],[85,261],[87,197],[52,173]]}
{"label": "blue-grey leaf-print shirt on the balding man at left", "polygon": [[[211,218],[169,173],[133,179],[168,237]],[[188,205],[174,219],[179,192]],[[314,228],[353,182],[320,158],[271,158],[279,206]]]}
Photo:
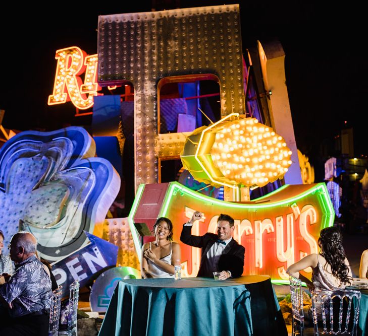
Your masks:
{"label": "blue-grey leaf-print shirt on the balding man at left", "polygon": [[35,255],[16,264],[9,281],[0,286],[0,295],[11,302],[12,317],[50,308],[51,280]]}

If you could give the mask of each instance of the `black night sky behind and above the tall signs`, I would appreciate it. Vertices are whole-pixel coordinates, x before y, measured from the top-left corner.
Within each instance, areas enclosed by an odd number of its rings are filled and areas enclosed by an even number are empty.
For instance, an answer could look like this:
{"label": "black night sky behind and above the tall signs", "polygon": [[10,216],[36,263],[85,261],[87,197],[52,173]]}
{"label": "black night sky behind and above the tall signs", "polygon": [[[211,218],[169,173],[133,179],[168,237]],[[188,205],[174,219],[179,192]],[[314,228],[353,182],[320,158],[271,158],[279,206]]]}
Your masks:
{"label": "black night sky behind and above the tall signs", "polygon": [[[6,110],[4,127],[51,130],[71,122],[75,113],[71,103],[47,106],[56,71],[55,51],[76,45],[87,54],[96,53],[98,15],[236,2],[135,3],[95,9],[63,5],[64,14],[48,10],[43,15],[29,5],[2,11],[0,108]],[[364,11],[353,5],[337,7],[336,3],[333,7],[296,1],[238,3],[243,53],[257,40],[277,38],[283,45],[297,147],[318,166],[325,159],[321,144],[332,143],[342,128],[353,127],[354,154],[367,155],[362,121],[368,96]],[[320,176],[323,178],[316,172],[317,179]]]}

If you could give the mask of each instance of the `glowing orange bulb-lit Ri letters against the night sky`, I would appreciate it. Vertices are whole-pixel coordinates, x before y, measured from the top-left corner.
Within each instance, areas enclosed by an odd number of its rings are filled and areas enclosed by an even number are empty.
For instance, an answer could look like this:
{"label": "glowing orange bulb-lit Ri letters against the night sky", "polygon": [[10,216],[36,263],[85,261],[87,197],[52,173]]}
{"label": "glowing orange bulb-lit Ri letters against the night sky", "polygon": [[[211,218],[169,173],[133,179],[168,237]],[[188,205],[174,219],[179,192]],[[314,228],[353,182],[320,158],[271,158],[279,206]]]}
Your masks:
{"label": "glowing orange bulb-lit Ri letters against the night sky", "polygon": [[[69,47],[56,51],[58,60],[54,89],[48,96],[48,105],[64,104],[71,101],[81,110],[93,105],[93,96],[97,95],[97,54],[86,55],[78,47]],[[84,73],[84,82],[81,75]]]}

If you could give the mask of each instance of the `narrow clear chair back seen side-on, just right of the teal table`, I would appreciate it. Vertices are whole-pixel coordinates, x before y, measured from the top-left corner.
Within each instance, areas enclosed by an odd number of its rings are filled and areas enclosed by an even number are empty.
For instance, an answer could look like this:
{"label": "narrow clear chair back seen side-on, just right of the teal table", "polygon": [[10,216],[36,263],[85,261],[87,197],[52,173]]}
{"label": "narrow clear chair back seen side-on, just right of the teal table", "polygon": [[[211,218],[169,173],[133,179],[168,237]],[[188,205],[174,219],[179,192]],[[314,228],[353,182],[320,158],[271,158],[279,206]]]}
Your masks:
{"label": "narrow clear chair back seen side-on, just right of the teal table", "polygon": [[292,310],[292,332],[294,335],[302,335],[304,331],[303,293],[301,280],[290,276],[290,299]]}

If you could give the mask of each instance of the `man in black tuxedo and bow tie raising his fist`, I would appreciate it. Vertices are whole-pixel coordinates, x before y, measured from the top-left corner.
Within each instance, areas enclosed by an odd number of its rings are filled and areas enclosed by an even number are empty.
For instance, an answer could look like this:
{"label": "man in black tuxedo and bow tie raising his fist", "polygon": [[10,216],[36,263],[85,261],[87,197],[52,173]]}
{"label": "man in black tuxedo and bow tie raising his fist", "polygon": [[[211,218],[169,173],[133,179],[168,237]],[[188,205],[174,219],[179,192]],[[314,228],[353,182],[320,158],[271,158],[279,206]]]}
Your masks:
{"label": "man in black tuxedo and bow tie raising his fist", "polygon": [[203,236],[193,236],[192,225],[201,217],[201,213],[196,211],[190,221],[184,224],[180,236],[183,243],[202,249],[197,277],[213,277],[215,271],[221,271],[220,280],[240,277],[243,273],[245,248],[232,238],[234,220],[229,215],[221,214],[217,219],[217,235],[206,233]]}

